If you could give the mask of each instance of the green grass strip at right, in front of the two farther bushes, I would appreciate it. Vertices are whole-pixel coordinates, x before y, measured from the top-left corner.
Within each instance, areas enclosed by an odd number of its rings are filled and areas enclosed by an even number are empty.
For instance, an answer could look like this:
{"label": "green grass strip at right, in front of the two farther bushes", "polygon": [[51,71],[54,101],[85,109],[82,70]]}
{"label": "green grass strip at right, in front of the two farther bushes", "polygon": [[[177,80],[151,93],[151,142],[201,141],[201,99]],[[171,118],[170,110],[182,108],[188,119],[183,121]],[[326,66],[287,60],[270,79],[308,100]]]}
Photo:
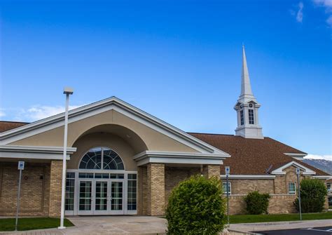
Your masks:
{"label": "green grass strip at right, in front of the two farther bushes", "polygon": [[[326,213],[302,214],[302,220],[328,220],[332,219],[332,211]],[[300,220],[298,214],[283,215],[230,215],[230,224],[255,223],[255,222],[278,222]]]}

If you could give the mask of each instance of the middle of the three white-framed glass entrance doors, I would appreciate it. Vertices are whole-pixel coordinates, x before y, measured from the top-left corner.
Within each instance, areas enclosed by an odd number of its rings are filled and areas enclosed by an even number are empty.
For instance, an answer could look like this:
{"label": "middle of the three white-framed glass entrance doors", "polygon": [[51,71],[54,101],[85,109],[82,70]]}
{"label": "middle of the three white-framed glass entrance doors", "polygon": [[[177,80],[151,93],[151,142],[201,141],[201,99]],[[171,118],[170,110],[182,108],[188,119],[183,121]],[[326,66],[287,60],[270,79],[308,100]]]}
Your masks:
{"label": "middle of the three white-framed glass entrance doors", "polygon": [[106,215],[108,212],[108,182],[96,181],[95,182],[95,215]]}

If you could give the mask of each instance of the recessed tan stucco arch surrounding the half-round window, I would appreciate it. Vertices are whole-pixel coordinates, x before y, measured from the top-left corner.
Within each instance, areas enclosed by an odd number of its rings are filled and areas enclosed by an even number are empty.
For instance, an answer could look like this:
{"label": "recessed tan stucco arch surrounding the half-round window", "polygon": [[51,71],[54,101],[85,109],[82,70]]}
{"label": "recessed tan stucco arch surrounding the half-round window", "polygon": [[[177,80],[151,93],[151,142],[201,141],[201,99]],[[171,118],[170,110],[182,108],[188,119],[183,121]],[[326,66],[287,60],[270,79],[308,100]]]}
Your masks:
{"label": "recessed tan stucco arch surrounding the half-round window", "polygon": [[137,170],[137,164],[132,159],[134,149],[132,149],[125,140],[118,137],[118,135],[112,135],[110,133],[92,133],[84,135],[75,142],[73,147],[77,147],[77,151],[71,155],[67,164],[68,169],[77,169],[81,158],[89,149],[93,147],[109,147],[123,160],[125,170]]}

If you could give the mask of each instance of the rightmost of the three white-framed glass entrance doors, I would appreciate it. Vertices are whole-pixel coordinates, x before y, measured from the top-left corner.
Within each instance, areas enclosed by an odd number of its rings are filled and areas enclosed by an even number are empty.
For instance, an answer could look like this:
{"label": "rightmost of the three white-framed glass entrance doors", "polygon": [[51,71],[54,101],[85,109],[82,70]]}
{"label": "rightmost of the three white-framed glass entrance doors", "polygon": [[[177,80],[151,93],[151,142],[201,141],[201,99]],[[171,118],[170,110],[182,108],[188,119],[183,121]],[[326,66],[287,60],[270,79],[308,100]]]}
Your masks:
{"label": "rightmost of the three white-framed glass entrance doors", "polygon": [[111,214],[123,215],[123,181],[111,181]]}

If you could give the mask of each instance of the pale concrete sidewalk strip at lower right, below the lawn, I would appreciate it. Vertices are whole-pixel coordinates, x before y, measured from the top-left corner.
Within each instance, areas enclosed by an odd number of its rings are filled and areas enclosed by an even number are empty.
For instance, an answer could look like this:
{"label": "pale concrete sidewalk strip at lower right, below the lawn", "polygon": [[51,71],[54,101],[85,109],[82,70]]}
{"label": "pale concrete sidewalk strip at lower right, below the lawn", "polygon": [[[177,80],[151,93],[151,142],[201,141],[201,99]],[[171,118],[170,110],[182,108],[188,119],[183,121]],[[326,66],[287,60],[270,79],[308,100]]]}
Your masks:
{"label": "pale concrete sidewalk strip at lower right, below the lawn", "polygon": [[230,224],[230,229],[236,231],[269,231],[281,229],[302,229],[310,227],[328,227],[332,226],[332,220],[303,220],[289,222],[263,222],[252,224]]}

